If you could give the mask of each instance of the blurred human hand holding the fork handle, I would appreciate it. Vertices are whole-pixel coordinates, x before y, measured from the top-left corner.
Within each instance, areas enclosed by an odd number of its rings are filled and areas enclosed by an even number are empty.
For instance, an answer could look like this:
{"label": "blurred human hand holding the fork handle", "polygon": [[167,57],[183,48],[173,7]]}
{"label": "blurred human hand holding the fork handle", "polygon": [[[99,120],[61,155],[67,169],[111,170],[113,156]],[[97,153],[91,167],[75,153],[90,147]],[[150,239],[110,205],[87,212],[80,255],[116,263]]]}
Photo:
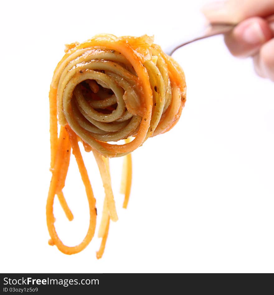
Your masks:
{"label": "blurred human hand holding the fork handle", "polygon": [[224,41],[236,57],[252,57],[257,74],[274,81],[274,0],[227,0],[205,5],[210,23],[238,23]]}

